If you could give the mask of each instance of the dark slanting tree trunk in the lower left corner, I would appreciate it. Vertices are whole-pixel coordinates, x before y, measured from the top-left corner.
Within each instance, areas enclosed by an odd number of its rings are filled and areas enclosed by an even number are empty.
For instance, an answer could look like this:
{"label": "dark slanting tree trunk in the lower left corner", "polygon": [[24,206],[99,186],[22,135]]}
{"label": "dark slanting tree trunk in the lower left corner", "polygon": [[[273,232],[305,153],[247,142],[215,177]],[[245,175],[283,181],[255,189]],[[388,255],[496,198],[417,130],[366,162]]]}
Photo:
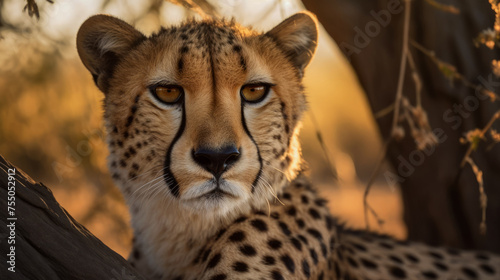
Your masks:
{"label": "dark slanting tree trunk in the lower left corner", "polygon": [[0,209],[2,279],[144,279],[2,156]]}

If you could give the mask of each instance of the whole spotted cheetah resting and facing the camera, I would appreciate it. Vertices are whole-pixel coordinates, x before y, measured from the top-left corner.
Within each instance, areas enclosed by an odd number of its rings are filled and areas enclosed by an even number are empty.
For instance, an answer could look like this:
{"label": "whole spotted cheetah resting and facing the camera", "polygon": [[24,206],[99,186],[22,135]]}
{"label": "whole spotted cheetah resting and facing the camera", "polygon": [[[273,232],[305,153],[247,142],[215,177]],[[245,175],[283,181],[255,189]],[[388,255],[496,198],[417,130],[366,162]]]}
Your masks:
{"label": "whole spotted cheetah resting and facing the camera", "polygon": [[498,256],[345,228],[304,175],[311,13],[260,33],[188,20],[146,37],[96,15],[77,49],[104,93],[109,169],[147,279],[500,279]]}

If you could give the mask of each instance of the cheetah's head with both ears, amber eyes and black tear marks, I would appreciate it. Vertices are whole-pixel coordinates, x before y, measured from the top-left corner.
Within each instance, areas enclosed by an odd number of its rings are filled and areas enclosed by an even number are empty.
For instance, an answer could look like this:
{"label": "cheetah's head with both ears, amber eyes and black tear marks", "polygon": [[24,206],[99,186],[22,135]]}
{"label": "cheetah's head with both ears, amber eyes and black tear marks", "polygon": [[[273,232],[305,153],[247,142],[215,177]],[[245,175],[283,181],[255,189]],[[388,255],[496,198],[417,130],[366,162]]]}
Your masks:
{"label": "cheetah's head with both ears, amber eyes and black tear marks", "polygon": [[272,199],[299,169],[301,79],[316,40],[305,13],[265,34],[191,21],[149,38],[88,19],[78,52],[105,93],[110,167],[127,199],[221,214]]}

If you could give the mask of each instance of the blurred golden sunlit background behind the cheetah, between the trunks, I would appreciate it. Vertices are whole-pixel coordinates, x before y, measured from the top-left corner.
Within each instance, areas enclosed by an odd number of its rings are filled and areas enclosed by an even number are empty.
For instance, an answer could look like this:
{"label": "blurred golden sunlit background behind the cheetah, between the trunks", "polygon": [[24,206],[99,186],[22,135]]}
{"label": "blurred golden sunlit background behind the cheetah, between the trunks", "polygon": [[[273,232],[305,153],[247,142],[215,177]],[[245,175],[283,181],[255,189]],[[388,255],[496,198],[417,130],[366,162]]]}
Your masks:
{"label": "blurred golden sunlit background behind the cheetah, between the trunks", "polygon": [[[28,15],[33,1],[27,2],[0,0],[0,154],[49,186],[77,221],[126,257],[132,233],[106,167],[103,95],[78,58],[76,32],[96,13],[122,18],[145,34],[196,14],[161,0],[38,0],[37,20]],[[303,9],[286,0],[217,3],[222,15],[262,31]],[[304,83],[310,108],[301,139],[309,173],[332,212],[364,228],[362,196],[381,140],[353,70],[324,30]],[[377,227],[372,220],[372,230],[405,238],[398,186],[377,181],[369,201],[385,221]]]}

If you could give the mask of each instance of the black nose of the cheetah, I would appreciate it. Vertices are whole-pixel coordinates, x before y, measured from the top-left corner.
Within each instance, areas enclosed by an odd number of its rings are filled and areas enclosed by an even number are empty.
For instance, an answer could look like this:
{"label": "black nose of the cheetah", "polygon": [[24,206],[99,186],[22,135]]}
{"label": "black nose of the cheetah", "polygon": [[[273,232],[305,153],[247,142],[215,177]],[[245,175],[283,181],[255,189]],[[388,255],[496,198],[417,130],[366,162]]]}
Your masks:
{"label": "black nose of the cheetah", "polygon": [[196,163],[219,180],[222,173],[239,159],[240,152],[234,145],[230,145],[219,149],[201,147],[193,150],[192,155]]}

